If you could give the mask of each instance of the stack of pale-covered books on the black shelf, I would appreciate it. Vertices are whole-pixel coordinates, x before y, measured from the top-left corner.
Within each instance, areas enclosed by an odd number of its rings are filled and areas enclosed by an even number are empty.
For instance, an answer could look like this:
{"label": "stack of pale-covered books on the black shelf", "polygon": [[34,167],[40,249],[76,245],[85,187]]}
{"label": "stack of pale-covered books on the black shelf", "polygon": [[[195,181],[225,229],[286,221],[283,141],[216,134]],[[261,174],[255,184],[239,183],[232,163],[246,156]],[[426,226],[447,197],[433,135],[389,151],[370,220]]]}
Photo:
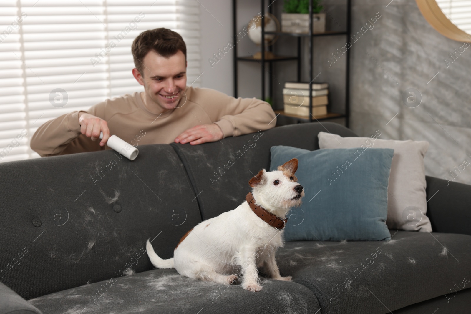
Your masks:
{"label": "stack of pale-covered books on the black shelf", "polygon": [[[313,116],[327,114],[327,83],[312,83]],[[286,82],[283,89],[284,113],[309,117],[309,83]]]}

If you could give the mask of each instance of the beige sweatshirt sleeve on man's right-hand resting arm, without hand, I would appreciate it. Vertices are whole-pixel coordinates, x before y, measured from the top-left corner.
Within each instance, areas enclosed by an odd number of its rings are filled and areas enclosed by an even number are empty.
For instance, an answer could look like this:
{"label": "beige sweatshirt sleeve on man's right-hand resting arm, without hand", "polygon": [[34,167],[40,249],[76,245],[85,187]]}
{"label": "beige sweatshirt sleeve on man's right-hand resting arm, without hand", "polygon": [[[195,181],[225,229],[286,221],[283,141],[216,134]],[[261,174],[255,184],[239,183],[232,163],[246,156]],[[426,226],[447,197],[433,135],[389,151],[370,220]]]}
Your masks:
{"label": "beige sweatshirt sleeve on man's right-hand resting arm, without hand", "polygon": [[214,123],[221,128],[224,138],[275,127],[276,115],[267,102],[256,98],[235,98],[213,89],[205,90],[211,111],[208,114],[214,117]]}

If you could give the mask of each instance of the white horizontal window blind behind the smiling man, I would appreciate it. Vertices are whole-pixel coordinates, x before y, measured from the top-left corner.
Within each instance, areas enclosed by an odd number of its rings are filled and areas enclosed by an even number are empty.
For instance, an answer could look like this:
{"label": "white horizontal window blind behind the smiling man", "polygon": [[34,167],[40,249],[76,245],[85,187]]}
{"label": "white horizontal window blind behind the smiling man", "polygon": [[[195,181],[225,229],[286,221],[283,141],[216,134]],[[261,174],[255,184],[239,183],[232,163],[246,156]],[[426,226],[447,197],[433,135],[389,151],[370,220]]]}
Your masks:
{"label": "white horizontal window blind behind the smiling man", "polygon": [[39,157],[29,141],[42,123],[144,90],[131,43],[158,27],[185,40],[189,85],[201,74],[197,0],[2,0],[0,162]]}

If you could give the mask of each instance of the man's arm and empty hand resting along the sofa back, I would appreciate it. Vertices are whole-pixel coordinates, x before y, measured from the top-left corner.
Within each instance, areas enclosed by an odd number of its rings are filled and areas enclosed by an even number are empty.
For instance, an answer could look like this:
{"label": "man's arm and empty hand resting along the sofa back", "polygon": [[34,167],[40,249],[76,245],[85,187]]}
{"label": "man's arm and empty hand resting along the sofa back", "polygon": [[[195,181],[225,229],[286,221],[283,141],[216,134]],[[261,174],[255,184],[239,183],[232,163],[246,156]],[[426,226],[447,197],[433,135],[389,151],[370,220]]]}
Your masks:
{"label": "man's arm and empty hand resting along the sofa back", "polygon": [[215,122],[187,129],[175,139],[176,143],[197,145],[271,129],[276,125],[276,115],[265,101],[234,98],[213,89],[199,89],[197,92],[201,96],[196,97],[196,102]]}

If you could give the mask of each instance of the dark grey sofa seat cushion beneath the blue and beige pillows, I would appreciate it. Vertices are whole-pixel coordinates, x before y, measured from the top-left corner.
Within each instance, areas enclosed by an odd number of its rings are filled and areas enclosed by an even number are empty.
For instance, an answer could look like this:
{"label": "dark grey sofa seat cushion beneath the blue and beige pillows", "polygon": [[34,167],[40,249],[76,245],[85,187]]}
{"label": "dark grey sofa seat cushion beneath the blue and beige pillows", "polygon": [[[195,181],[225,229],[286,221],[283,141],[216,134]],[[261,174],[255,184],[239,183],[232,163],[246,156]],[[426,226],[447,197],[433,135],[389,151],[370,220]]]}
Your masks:
{"label": "dark grey sofa seat cushion beneath the blue and beige pillows", "polygon": [[470,235],[391,235],[387,242],[286,242],[276,260],[282,276],[316,294],[323,314],[389,313],[471,287],[463,282],[471,278]]}

